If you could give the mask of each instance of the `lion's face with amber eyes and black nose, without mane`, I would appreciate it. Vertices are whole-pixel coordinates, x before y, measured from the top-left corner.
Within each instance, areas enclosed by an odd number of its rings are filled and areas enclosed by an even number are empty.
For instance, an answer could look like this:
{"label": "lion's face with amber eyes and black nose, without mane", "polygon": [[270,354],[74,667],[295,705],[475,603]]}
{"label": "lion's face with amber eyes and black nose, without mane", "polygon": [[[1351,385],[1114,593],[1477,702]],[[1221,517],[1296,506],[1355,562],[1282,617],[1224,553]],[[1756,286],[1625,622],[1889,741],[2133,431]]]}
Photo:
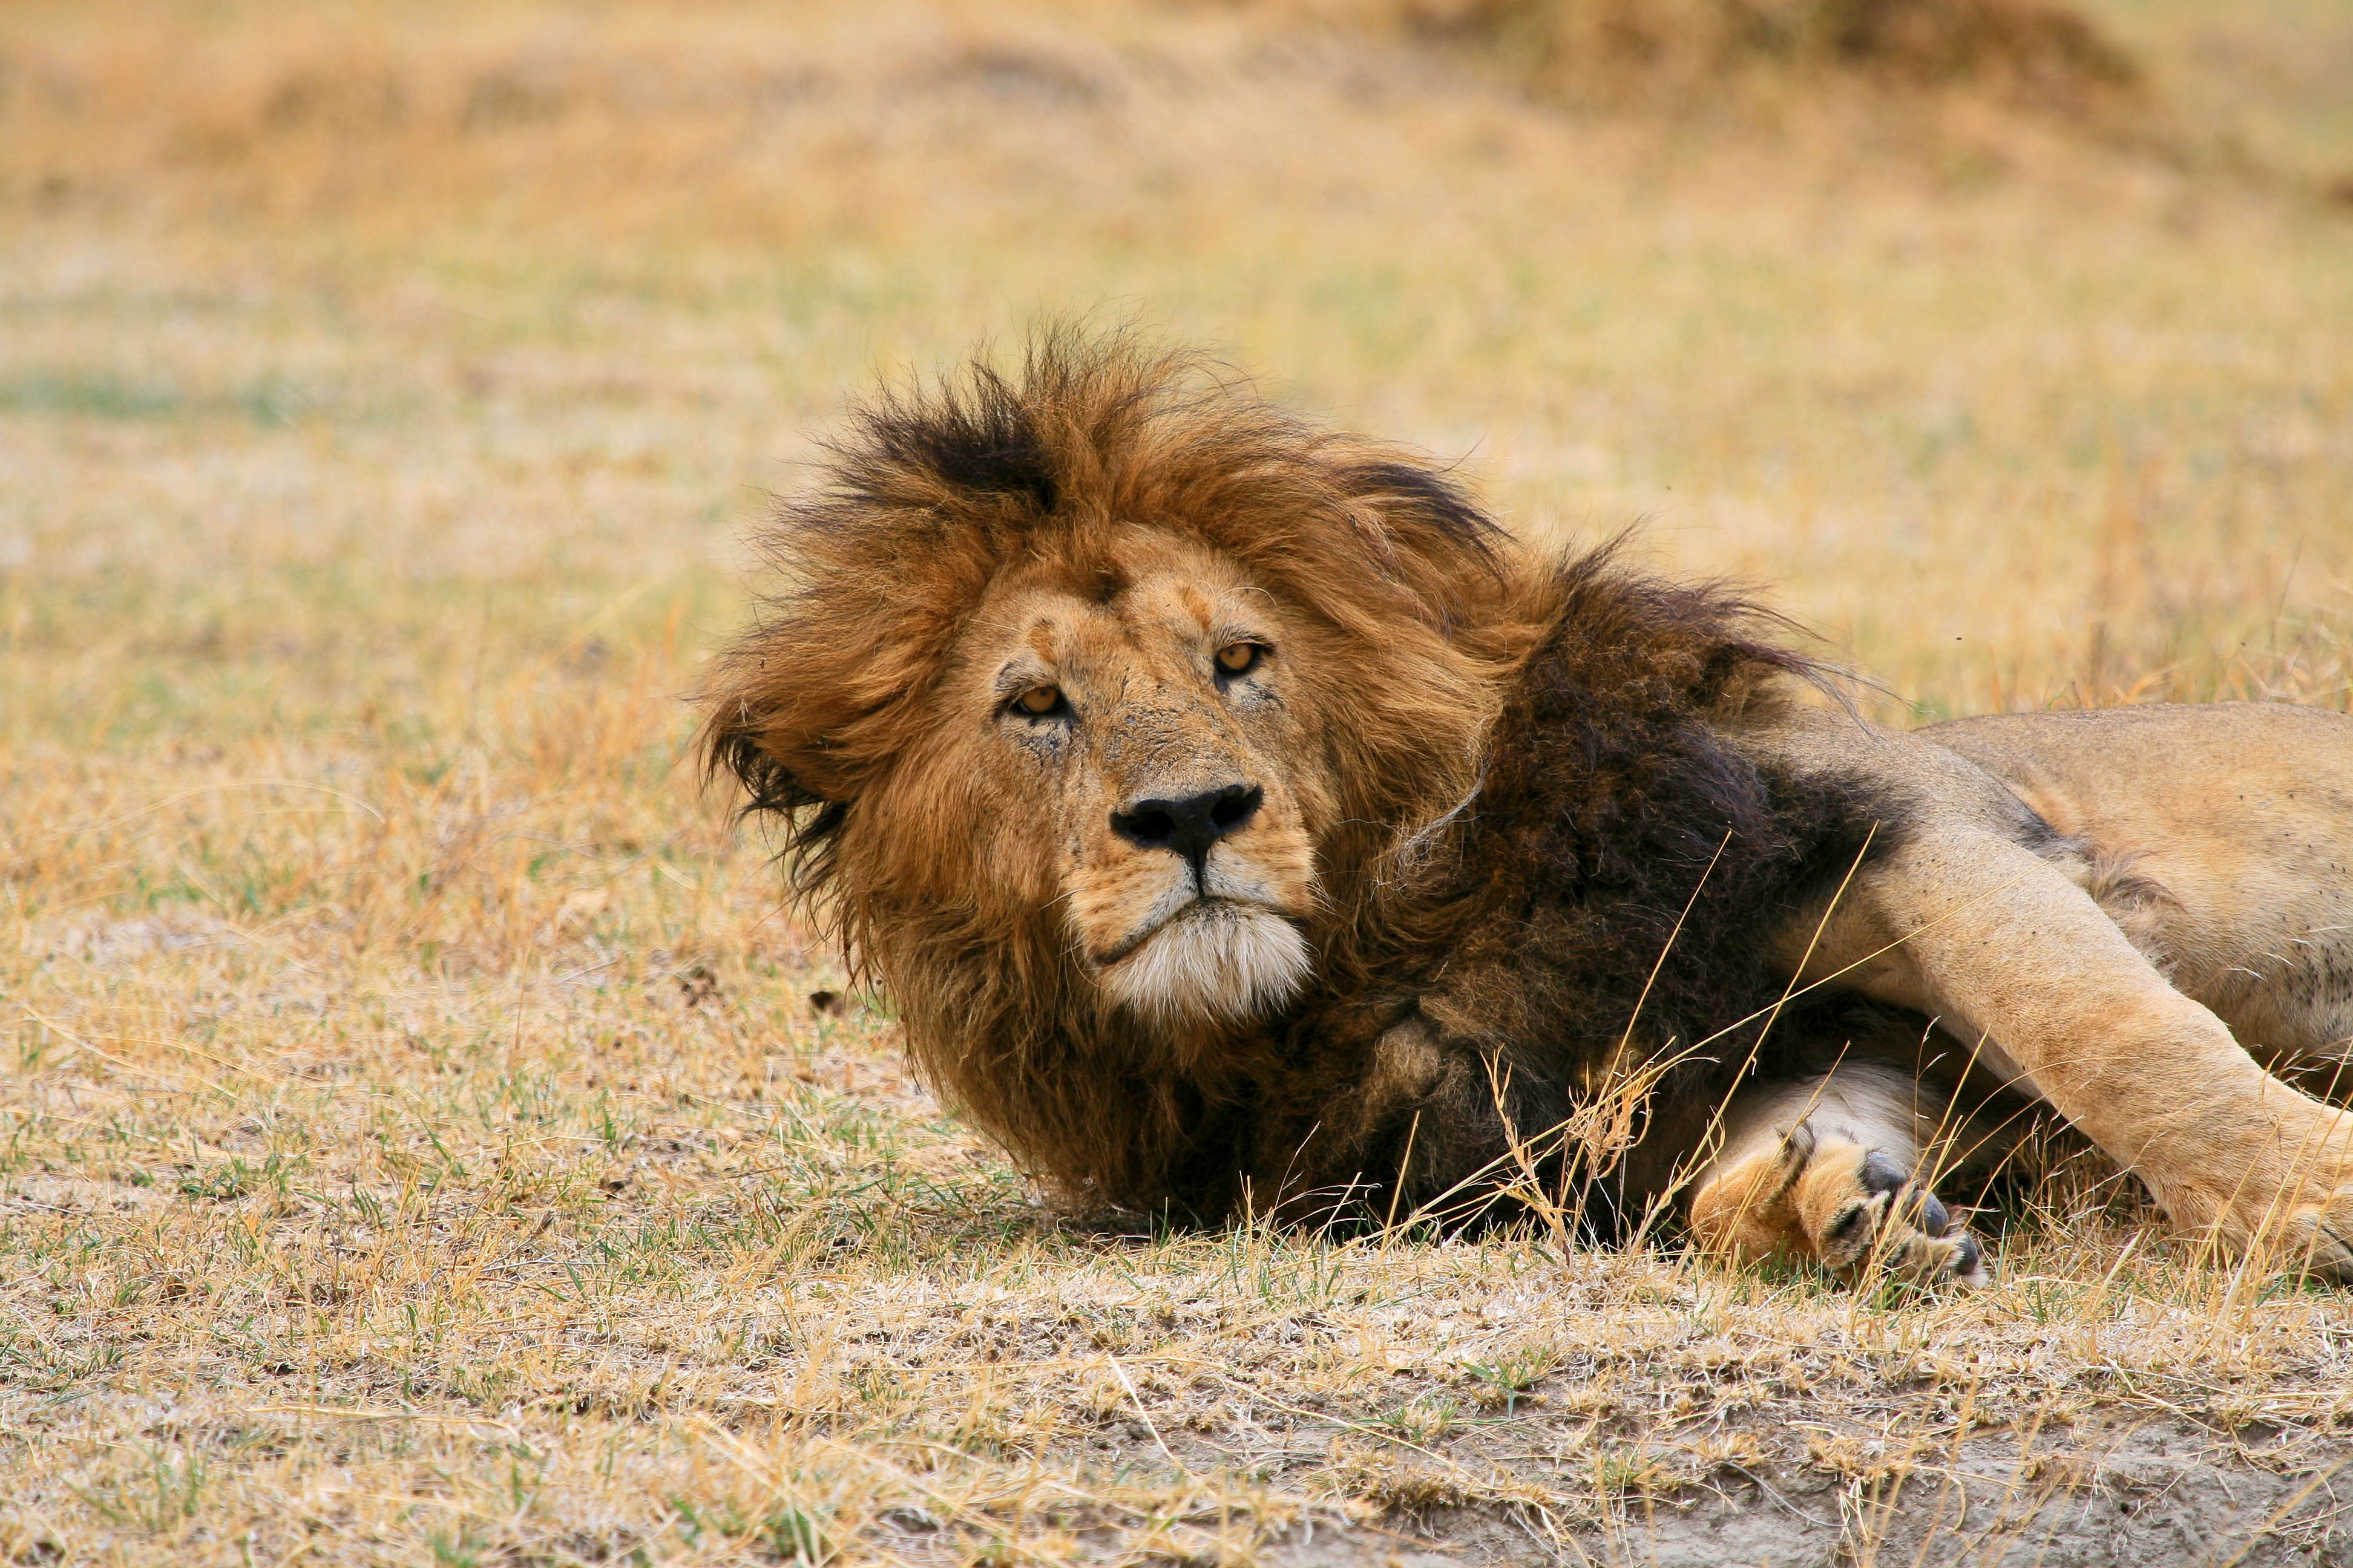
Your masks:
{"label": "lion's face with amber eyes and black nose, without mane", "polygon": [[1313,957],[1315,632],[1240,567],[1132,529],[991,585],[941,686],[976,764],[979,865],[1061,912],[1101,994],[1151,1025],[1287,1001]]}

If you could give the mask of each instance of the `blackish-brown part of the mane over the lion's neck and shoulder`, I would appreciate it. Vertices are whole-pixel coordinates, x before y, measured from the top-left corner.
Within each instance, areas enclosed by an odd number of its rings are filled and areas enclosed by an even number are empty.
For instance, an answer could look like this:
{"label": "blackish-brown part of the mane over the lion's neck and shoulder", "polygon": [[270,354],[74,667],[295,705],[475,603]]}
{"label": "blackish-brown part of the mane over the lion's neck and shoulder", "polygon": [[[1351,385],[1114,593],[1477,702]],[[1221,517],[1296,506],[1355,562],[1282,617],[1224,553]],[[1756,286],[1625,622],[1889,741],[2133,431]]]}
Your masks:
{"label": "blackish-brown part of the mane over the lion's neck and shoulder", "polygon": [[[1541,1161],[1555,1182],[1572,1166],[1593,1178],[1586,1220],[1607,1234],[1666,1194],[1741,1077],[1882,1027],[1847,999],[1784,1009],[1769,936],[1889,851],[1908,804],[1758,766],[1722,733],[1772,719],[1791,679],[1821,670],[1722,585],[1628,571],[1612,545],[1555,571],[1558,618],[1513,677],[1475,806],[1391,907],[1365,969],[1332,976],[1294,1023],[1289,1060],[1320,1051],[1306,1077],[1334,1079],[1334,1053],[1362,1056],[1367,1032],[1412,1020],[1435,1046],[1433,1079],[1348,1117],[1329,1112],[1329,1088],[1273,1093],[1325,1110],[1252,1128],[1242,1168],[1259,1185],[1297,1171],[1285,1192],[1308,1211],[1341,1190],[1386,1211],[1391,1182],[1407,1211],[1475,1211],[1522,1175],[1513,1140],[1544,1145],[1633,1079],[1621,1143],[1553,1140]],[[1334,1124],[1353,1147],[1318,1147]]]}

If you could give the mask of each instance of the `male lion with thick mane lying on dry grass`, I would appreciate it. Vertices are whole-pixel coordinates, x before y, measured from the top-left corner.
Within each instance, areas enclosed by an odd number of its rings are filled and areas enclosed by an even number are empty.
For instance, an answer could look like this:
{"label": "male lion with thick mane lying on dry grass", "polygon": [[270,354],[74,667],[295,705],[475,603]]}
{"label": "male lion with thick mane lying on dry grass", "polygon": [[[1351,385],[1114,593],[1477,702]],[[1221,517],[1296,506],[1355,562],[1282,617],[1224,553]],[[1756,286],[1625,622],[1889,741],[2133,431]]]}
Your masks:
{"label": "male lion with thick mane lying on dry grass", "polygon": [[1894,733],[1741,599],[1539,559],[1419,458],[1047,334],[887,393],[765,545],[713,766],[1073,1194],[1459,1213],[1981,1281],[2021,1100],[2353,1276],[2353,719]]}

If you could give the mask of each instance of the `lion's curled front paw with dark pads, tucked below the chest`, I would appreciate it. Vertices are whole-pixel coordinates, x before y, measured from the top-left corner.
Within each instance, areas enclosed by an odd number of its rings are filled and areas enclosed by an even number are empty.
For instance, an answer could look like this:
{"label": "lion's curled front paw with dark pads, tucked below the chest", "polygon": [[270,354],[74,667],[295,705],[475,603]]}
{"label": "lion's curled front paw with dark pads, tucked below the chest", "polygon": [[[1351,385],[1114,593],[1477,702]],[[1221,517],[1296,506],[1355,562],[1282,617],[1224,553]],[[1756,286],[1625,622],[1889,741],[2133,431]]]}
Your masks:
{"label": "lion's curled front paw with dark pads, tucked below the chest", "polygon": [[1739,1260],[1817,1258],[1857,1279],[1986,1284],[1986,1253],[1920,1182],[1908,1074],[1842,1065],[1744,1091],[1692,1185],[1692,1237]]}

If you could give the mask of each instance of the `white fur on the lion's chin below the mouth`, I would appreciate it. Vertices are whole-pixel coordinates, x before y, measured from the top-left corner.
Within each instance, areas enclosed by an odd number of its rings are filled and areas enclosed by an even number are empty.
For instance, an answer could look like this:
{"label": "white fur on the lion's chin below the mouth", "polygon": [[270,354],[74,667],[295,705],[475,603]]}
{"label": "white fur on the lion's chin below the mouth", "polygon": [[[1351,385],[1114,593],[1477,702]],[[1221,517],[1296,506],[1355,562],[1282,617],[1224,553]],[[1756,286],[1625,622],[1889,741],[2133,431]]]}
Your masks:
{"label": "white fur on the lion's chin below the mouth", "polygon": [[1099,978],[1104,994],[1158,1025],[1242,1023],[1289,1001],[1313,966],[1292,922],[1212,903],[1186,910]]}

